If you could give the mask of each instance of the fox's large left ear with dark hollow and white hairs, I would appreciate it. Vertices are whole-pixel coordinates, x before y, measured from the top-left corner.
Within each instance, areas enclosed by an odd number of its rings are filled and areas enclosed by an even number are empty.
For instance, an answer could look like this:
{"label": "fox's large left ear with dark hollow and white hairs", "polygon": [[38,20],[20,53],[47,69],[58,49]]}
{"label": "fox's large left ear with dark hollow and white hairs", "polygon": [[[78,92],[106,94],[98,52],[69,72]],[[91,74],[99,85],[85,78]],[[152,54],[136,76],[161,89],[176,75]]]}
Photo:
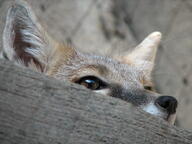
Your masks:
{"label": "fox's large left ear with dark hollow and white hairs", "polygon": [[26,2],[9,9],[3,33],[3,55],[17,64],[45,71],[56,43],[38,23]]}

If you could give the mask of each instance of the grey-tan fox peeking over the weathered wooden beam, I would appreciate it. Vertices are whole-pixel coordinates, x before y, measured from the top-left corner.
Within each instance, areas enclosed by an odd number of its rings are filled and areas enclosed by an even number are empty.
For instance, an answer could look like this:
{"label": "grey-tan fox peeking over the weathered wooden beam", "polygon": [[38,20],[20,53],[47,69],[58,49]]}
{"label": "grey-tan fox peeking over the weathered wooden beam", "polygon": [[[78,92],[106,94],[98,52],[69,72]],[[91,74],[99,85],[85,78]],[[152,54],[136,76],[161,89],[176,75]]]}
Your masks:
{"label": "grey-tan fox peeking over the weathered wooden beam", "polygon": [[129,54],[111,58],[82,53],[52,39],[28,4],[16,0],[3,32],[1,57],[59,80],[112,96],[174,124],[177,100],[153,90],[154,66],[160,32],[153,32]]}

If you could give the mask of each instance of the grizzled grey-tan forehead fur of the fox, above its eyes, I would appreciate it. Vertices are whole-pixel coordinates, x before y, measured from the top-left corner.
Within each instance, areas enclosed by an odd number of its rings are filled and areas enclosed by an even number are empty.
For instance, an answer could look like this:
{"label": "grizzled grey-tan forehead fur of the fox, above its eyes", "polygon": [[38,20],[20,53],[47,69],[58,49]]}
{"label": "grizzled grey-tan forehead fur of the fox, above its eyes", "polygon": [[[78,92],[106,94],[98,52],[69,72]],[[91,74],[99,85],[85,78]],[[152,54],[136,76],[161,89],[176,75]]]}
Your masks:
{"label": "grizzled grey-tan forehead fur of the fox, above its eyes", "polygon": [[[62,51],[62,48],[59,49],[58,52],[61,56],[66,54],[66,51]],[[68,58],[65,57],[65,59],[61,57],[57,60],[55,66],[50,68],[48,75],[70,81],[93,75],[108,83],[124,86],[137,85],[137,87],[144,81],[150,81],[144,76],[142,68],[134,66],[131,61],[130,64],[123,64],[110,57],[79,52],[75,52],[69,55]]]}

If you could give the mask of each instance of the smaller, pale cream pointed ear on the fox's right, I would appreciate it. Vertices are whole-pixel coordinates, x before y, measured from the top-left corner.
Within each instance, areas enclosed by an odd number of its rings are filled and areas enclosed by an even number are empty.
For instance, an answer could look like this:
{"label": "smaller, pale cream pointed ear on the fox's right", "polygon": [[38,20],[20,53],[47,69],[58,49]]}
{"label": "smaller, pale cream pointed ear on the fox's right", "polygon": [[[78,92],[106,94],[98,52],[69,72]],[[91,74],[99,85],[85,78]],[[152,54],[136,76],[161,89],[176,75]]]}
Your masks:
{"label": "smaller, pale cream pointed ear on the fox's right", "polygon": [[120,61],[133,64],[138,67],[150,66],[151,71],[154,65],[157,48],[161,41],[161,33],[153,32],[147,36],[131,53],[120,57]]}

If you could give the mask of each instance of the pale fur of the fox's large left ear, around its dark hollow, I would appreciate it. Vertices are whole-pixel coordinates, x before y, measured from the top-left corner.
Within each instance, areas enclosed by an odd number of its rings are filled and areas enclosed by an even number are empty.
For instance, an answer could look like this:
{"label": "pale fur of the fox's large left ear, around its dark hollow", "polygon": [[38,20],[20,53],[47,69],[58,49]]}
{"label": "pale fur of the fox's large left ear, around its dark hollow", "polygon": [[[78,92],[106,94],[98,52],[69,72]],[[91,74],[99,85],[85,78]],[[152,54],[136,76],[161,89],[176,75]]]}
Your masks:
{"label": "pale fur of the fox's large left ear, around its dark hollow", "polygon": [[[41,64],[46,65],[48,58],[54,53],[56,43],[42,29],[33,11],[23,0],[16,0],[15,4],[8,11],[3,33],[3,51],[9,60],[24,65],[23,59],[15,60],[17,53],[14,48],[16,35],[14,26],[18,28],[17,32],[22,35],[21,41],[31,45],[31,47],[25,47],[23,52],[31,54]],[[29,62],[29,67],[34,69],[35,63]]]}

